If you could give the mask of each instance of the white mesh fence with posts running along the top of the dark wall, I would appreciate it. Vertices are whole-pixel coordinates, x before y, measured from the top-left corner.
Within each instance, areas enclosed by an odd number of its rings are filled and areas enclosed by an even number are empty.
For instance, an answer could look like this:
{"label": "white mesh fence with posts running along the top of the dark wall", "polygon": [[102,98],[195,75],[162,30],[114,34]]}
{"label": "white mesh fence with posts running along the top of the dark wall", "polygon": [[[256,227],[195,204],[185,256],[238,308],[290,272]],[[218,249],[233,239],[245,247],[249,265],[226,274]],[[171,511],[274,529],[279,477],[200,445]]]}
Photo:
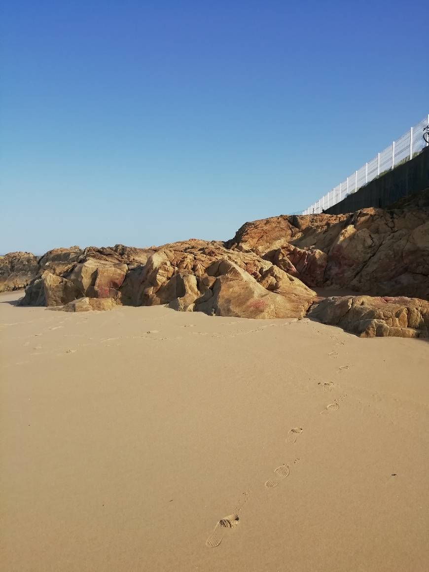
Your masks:
{"label": "white mesh fence with posts running along the top of the dark wall", "polygon": [[326,210],[330,206],[336,205],[337,202],[342,201],[348,194],[355,193],[367,182],[372,181],[390,169],[394,169],[400,163],[415,157],[428,145],[423,139],[423,130],[428,125],[429,115],[300,214],[312,215],[321,213],[322,210]]}

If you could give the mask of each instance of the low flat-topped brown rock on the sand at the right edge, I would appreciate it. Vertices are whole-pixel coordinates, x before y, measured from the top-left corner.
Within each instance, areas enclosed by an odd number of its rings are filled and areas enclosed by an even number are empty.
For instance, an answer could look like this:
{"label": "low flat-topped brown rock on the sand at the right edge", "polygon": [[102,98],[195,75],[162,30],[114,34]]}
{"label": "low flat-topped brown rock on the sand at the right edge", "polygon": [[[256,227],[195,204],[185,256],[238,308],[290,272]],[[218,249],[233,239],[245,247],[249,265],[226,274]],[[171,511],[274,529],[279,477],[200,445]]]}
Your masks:
{"label": "low flat-topped brown rock on the sand at the right edge", "polygon": [[360,337],[429,336],[429,302],[417,298],[330,297],[312,307],[308,315]]}

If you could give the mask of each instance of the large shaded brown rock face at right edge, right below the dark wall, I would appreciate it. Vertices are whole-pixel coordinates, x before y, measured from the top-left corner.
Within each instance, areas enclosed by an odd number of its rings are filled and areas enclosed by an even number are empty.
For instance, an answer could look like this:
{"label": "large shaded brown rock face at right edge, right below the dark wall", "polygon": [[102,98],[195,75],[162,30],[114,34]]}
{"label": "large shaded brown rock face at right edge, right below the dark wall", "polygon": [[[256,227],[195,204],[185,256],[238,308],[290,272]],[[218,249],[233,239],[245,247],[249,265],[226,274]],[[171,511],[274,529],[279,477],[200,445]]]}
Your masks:
{"label": "large shaded brown rock face at right edge, right below the dark wall", "polygon": [[429,299],[429,209],[362,209],[328,252],[325,285]]}

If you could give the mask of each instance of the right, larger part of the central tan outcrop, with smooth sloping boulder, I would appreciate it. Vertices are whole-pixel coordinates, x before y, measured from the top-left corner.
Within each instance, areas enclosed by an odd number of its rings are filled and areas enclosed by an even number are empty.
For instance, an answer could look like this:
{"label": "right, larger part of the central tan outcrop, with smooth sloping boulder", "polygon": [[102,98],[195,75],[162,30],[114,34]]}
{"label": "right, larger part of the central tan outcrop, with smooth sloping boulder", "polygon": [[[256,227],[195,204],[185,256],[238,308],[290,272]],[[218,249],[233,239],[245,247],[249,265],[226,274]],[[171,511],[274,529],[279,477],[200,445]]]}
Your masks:
{"label": "right, larger part of the central tan outcrop, with smooth sloping boulder", "polygon": [[[281,299],[269,296],[271,292]],[[241,315],[268,317],[276,311],[284,313],[288,298],[288,317],[301,317],[316,293],[254,253],[240,254],[216,243],[199,241],[197,245],[172,244],[154,253],[144,267],[128,273],[119,300],[122,304],[169,304],[186,311],[237,316],[244,300],[256,301],[262,296],[267,297],[264,304],[247,304],[247,309],[241,308]]]}

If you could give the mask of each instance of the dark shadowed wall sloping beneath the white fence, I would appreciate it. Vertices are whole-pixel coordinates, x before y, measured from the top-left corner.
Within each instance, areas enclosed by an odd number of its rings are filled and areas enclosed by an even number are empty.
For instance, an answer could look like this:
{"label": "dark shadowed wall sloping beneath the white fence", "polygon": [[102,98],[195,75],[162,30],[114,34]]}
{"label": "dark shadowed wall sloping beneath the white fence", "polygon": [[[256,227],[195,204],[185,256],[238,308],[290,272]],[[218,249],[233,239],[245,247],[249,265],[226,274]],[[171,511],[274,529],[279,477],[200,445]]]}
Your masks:
{"label": "dark shadowed wall sloping beneath the white fence", "polygon": [[398,165],[394,170],[368,182],[356,193],[350,194],[336,205],[326,209],[328,215],[351,213],[375,206],[386,208],[399,198],[417,193],[429,186],[429,147],[418,156]]}

